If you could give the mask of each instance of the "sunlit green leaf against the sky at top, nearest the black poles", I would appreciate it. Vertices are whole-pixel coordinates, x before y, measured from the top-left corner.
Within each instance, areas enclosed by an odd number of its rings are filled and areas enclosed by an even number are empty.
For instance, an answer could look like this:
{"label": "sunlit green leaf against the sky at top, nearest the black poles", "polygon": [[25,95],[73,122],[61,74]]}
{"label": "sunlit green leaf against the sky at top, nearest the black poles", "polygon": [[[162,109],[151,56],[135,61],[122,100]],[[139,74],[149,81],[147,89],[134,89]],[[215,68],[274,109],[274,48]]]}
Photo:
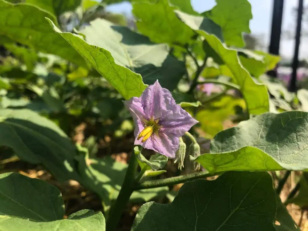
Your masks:
{"label": "sunlit green leaf against the sky at top, nearest the black poles", "polygon": [[242,32],[250,33],[251,5],[247,0],[216,0],[212,10],[203,13],[222,28],[228,46],[244,47]]}

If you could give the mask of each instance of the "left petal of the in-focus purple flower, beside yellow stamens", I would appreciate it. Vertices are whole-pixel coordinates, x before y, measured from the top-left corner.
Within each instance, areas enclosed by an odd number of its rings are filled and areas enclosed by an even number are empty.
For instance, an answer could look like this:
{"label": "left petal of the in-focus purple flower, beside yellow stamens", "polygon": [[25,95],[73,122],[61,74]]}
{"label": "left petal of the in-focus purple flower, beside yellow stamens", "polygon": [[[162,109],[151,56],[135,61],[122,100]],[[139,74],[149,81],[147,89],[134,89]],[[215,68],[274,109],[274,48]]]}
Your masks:
{"label": "left petal of the in-focus purple flower, beside yellow stamens", "polygon": [[[124,105],[130,111],[134,123],[136,125],[134,135],[137,140],[139,133],[144,129],[145,126],[144,123],[145,114],[143,111],[142,103],[138,97],[132,97],[131,99],[125,100]],[[140,145],[141,140],[137,140],[138,144],[136,144],[136,140],[135,140],[135,145]]]}

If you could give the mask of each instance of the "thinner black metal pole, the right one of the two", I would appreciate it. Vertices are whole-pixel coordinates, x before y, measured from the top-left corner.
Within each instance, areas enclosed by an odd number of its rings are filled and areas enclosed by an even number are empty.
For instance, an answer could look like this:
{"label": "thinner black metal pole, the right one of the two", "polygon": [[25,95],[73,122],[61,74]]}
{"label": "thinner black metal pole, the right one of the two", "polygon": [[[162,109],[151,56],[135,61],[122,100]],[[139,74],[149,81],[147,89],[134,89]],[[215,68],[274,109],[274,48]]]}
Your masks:
{"label": "thinner black metal pole, the right one of the two", "polygon": [[297,75],[297,68],[298,68],[298,50],[299,50],[299,43],[301,40],[303,5],[304,5],[304,0],[298,0],[295,50],[294,50],[293,63],[292,63],[292,78],[289,83],[289,91],[292,91],[292,92],[297,91],[296,75]]}

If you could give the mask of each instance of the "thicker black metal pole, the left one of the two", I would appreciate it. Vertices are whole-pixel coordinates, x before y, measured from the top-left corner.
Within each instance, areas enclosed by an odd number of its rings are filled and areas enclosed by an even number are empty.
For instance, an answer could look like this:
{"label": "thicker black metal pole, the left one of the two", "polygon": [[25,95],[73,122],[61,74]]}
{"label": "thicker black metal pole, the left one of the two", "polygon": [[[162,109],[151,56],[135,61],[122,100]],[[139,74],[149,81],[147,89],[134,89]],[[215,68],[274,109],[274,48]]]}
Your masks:
{"label": "thicker black metal pole, the left one of the two", "polygon": [[[273,5],[272,30],[269,47],[269,53],[273,55],[279,55],[283,1],[284,0],[274,0]],[[277,77],[277,69],[275,68],[274,70],[268,71],[267,74],[273,77]]]}

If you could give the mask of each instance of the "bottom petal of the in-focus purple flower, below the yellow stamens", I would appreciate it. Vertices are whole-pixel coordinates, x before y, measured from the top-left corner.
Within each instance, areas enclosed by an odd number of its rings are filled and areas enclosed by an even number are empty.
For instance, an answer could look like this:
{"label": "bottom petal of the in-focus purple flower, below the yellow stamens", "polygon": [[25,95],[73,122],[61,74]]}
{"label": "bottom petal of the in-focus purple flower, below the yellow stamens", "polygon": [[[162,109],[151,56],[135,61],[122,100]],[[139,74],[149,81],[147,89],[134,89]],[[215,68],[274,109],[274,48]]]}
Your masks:
{"label": "bottom petal of the in-focus purple flower, below the yellow stamens", "polygon": [[169,158],[175,158],[175,153],[179,148],[179,142],[180,139],[178,137],[168,137],[166,134],[159,132],[159,136],[153,134],[141,145],[146,149],[154,150],[155,152],[168,156]]}

